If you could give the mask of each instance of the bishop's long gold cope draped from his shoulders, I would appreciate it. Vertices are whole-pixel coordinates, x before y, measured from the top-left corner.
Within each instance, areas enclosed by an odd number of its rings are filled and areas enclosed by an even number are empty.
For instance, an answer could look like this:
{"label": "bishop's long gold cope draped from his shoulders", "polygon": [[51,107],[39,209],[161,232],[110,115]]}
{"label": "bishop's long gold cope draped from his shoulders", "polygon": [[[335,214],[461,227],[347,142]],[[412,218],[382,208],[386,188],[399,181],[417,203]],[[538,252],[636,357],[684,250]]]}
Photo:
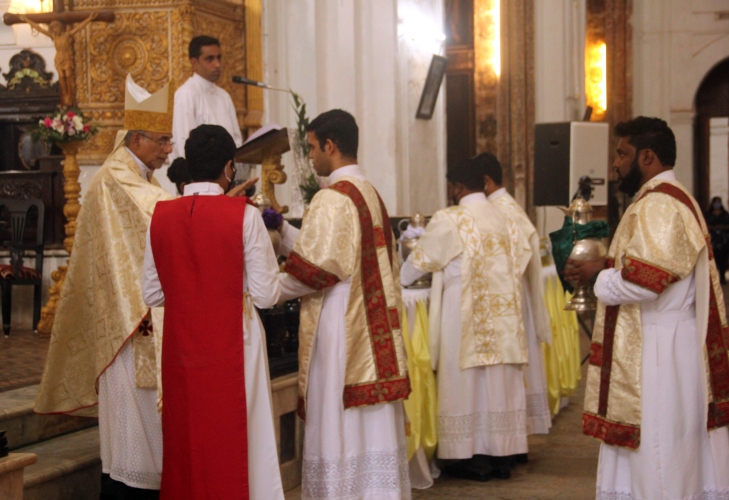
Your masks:
{"label": "bishop's long gold cope draped from his shoulders", "polygon": [[36,412],[95,416],[97,379],[130,337],[137,386],[156,386],[153,328],[161,331],[163,309],[150,314],[141,276],[152,212],[168,199],[117,142],[84,194]]}

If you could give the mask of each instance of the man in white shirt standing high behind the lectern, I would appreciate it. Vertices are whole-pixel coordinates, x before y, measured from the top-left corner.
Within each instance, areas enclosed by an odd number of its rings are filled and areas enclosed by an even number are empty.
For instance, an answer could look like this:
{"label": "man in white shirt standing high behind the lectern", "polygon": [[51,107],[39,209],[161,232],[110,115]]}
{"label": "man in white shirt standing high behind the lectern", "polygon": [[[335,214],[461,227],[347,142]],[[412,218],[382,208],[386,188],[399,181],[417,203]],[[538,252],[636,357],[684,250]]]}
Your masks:
{"label": "man in white shirt standing high behind the lectern", "polygon": [[172,133],[175,146],[170,159],[185,156],[185,141],[199,125],[220,125],[233,137],[235,147],[243,145],[243,135],[230,94],[216,85],[222,75],[220,42],[210,36],[196,36],[188,48],[193,75],[175,92]]}

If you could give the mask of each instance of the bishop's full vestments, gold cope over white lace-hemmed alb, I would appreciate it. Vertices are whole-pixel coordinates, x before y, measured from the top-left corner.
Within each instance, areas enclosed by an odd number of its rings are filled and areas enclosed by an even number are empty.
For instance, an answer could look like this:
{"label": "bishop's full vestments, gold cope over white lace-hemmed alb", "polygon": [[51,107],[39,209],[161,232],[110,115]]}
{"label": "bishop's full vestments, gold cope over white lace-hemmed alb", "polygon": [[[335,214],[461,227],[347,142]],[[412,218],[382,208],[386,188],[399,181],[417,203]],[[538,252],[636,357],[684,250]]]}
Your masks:
{"label": "bishop's full vestments, gold cope over white lace-hemmed alb", "polygon": [[103,472],[159,489],[152,332],[162,310],[150,314],[139,277],[154,206],[171,196],[145,169],[119,145],[84,193],[35,411],[96,416],[98,403]]}

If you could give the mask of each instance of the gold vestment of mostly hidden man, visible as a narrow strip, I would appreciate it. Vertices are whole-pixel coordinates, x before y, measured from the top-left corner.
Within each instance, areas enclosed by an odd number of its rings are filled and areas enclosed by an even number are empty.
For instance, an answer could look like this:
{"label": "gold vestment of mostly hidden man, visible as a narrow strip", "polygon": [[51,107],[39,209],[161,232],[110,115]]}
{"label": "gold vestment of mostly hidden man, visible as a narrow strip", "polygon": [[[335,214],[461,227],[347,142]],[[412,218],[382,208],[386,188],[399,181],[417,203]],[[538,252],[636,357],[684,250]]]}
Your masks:
{"label": "gold vestment of mostly hidden man, visible as a narrow strip", "polygon": [[[494,196],[496,195],[496,196]],[[506,190],[503,193],[493,193],[489,201],[498,208],[504,217],[510,219],[519,228],[522,238],[527,240],[528,250],[524,252],[522,263],[522,276],[529,283],[529,297],[534,316],[534,328],[537,338],[547,344],[552,343],[552,329],[550,327],[549,313],[544,302],[544,277],[542,276],[542,258],[539,254],[539,234],[529,220],[526,212],[519,206]]]}

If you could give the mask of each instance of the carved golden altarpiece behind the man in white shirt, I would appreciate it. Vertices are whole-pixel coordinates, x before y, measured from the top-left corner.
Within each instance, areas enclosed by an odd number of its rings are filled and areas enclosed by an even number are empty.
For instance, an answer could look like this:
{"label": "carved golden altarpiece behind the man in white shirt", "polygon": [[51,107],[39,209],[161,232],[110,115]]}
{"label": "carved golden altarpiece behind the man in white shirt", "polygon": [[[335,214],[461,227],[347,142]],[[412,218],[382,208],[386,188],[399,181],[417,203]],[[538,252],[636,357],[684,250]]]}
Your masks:
{"label": "carved golden altarpiece behind the man in white shirt", "polygon": [[262,74],[261,0],[67,0],[67,8],[116,14],[113,23],[91,24],[74,37],[77,102],[99,125],[79,163],[100,165],[111,152],[124,119],[127,73],[151,93],[170,77],[181,85],[192,75],[187,48],[198,35],[220,40],[218,84],[233,98],[239,123],[260,126],[260,91],[236,85],[231,77]]}

